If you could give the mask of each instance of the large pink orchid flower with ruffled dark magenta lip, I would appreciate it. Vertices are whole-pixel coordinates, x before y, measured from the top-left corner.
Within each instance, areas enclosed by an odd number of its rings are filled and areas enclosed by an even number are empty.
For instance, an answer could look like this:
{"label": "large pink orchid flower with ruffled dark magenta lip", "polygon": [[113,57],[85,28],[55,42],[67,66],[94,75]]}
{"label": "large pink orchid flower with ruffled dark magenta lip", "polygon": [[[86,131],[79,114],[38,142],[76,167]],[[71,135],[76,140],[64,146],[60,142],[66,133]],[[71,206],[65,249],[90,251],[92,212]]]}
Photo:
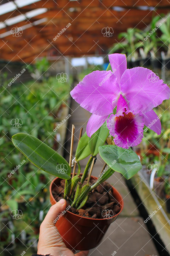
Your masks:
{"label": "large pink orchid flower with ruffled dark magenta lip", "polygon": [[153,108],[169,99],[168,86],[150,69],[127,69],[125,54],[108,57],[114,72],[93,71],[71,91],[73,99],[93,114],[87,123],[88,137],[106,120],[114,143],[122,148],[141,142],[144,124],[152,124],[150,129],[161,134],[161,122]]}

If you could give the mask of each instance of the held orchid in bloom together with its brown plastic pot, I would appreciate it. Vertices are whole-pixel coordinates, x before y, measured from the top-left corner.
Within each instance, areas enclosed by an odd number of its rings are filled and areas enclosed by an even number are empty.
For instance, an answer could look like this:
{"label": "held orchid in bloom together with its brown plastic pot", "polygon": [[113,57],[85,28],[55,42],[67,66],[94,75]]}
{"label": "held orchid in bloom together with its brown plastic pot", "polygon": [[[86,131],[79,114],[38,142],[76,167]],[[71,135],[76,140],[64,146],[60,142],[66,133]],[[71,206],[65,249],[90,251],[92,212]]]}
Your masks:
{"label": "held orchid in bloom together with its brown plastic pot", "polygon": [[[122,196],[106,181],[115,171],[130,179],[142,168],[131,147],[141,142],[144,124],[147,126],[153,118],[158,118],[152,108],[170,97],[168,86],[159,77],[156,76],[156,82],[150,81],[154,73],[149,69],[127,69],[124,54],[115,53],[108,57],[111,66],[107,71],[86,75],[71,91],[71,96],[92,115],[87,132],[82,136],[80,130],[75,158],[75,127],[72,126],[69,163],[31,135],[17,133],[12,136],[15,147],[34,165],[57,176],[50,185],[51,203],[63,197],[68,208],[55,220],[56,226],[68,248],[75,250],[96,247],[110,223],[122,211]],[[139,90],[141,85],[142,91]],[[151,129],[160,134],[160,120]],[[109,133],[113,143],[104,145]],[[99,177],[94,177],[92,171],[98,153],[105,166],[99,170]],[[82,171],[80,161],[89,156]]]}

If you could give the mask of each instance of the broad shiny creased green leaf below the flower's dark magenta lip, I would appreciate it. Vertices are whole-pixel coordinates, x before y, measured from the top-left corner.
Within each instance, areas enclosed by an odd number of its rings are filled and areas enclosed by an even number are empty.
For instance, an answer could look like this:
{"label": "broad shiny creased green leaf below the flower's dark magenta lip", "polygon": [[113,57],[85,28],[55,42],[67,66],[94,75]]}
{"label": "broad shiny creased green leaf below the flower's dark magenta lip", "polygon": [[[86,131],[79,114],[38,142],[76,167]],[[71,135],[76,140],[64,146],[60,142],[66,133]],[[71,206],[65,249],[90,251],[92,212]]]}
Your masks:
{"label": "broad shiny creased green leaf below the flower's dark magenta lip", "polygon": [[112,170],[121,173],[126,179],[133,177],[142,168],[138,155],[130,148],[105,145],[99,147],[99,154]]}

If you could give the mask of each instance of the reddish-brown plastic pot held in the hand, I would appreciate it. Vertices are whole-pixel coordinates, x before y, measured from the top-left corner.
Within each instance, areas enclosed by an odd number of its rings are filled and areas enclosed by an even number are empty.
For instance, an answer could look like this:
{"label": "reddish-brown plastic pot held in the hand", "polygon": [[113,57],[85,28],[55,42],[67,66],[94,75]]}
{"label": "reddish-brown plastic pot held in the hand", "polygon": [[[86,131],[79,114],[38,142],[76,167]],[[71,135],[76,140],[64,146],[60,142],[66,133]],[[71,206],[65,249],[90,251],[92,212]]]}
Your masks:
{"label": "reddish-brown plastic pot held in the hand", "polygon": [[[92,179],[97,179],[91,176]],[[60,178],[54,179],[49,187],[51,204],[55,204],[56,200],[53,197],[52,190],[54,186],[58,185]],[[81,217],[67,211],[56,222],[56,227],[65,242],[65,245],[71,250],[90,250],[99,245],[105,232],[110,224],[116,220],[117,216],[121,213],[124,207],[124,201],[121,194],[113,188],[114,198],[119,202],[121,209],[120,212],[113,217],[104,219],[92,219]]]}

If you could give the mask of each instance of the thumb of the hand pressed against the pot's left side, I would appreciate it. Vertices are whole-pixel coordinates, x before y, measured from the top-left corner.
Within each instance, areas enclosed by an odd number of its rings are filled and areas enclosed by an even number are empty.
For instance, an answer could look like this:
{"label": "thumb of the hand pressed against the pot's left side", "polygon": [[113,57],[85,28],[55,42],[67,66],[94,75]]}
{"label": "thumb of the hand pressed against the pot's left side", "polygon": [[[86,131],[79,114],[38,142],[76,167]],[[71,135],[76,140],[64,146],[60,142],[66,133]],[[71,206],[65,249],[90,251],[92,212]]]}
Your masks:
{"label": "thumb of the hand pressed against the pot's left side", "polygon": [[45,219],[42,222],[42,226],[55,226],[57,222],[57,217],[59,217],[59,214],[64,211],[66,208],[66,201],[65,199],[60,199],[59,202],[54,204],[50,207],[47,215],[45,216]]}

